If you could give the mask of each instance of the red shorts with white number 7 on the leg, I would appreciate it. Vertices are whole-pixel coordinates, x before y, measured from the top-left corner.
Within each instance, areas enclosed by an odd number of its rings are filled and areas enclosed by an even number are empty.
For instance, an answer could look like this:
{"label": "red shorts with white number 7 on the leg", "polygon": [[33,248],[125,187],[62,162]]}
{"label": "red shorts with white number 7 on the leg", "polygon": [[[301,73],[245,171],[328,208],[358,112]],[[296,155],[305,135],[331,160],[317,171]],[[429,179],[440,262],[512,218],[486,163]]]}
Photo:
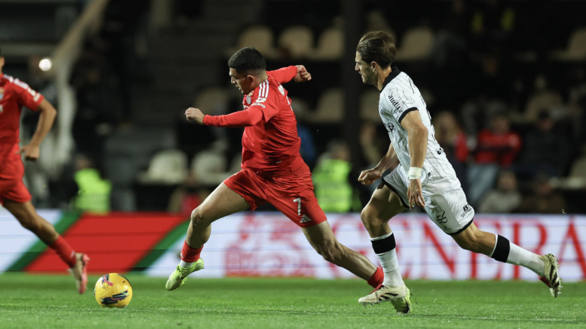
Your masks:
{"label": "red shorts with white number 7 on the leg", "polygon": [[328,219],[319,207],[306,165],[284,177],[266,177],[255,170],[242,169],[224,180],[224,184],[240,194],[250,204],[250,210],[270,203],[300,227],[311,227]]}

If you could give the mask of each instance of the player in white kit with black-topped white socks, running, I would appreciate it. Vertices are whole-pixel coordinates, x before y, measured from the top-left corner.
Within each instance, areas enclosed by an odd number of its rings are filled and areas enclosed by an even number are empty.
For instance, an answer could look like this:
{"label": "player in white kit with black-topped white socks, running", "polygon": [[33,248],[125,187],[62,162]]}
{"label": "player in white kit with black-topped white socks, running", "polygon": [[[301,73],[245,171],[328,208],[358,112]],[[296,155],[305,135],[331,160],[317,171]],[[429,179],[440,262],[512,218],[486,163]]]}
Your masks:
{"label": "player in white kit with black-topped white socks, running", "polygon": [[395,54],[392,37],[382,31],[366,33],[356,47],[355,70],[364,84],[372,84],[380,91],[379,114],[391,140],[379,164],[364,170],[358,178],[368,185],[390,170],[360,214],[383,268],[384,282],[360,298],[359,303],[391,301],[397,312],[410,313],[411,293],[399,272],[395,238],[388,222],[415,205],[423,207],[431,220],[462,248],[533,270],[550,288],[551,295],[557,297],[561,280],[556,256],[536,255],[474,225],[474,210],[435,140],[431,116],[420,91],[406,73],[391,68]]}

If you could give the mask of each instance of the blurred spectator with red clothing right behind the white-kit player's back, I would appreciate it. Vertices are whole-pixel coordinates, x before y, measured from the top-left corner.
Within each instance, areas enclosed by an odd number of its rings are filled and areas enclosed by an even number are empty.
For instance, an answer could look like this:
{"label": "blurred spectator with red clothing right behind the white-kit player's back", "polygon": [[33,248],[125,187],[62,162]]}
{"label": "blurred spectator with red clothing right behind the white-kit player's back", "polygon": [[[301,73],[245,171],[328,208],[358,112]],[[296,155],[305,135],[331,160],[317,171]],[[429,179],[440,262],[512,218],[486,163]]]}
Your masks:
{"label": "blurred spectator with red clothing right behind the white-kit player's back", "polygon": [[445,155],[454,167],[456,175],[464,188],[468,189],[466,177],[466,162],[469,149],[468,138],[462,131],[456,117],[451,112],[440,112],[434,117],[435,139],[444,149]]}

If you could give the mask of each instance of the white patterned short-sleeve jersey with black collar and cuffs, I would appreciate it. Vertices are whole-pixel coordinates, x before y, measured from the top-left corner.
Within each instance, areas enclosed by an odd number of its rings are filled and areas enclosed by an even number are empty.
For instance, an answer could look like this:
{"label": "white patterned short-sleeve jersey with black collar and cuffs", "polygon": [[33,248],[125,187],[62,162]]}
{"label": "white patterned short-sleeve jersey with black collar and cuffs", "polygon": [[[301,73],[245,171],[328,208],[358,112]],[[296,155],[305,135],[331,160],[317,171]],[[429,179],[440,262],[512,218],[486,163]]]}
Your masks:
{"label": "white patterned short-sleeve jersey with black collar and cuffs", "polygon": [[427,154],[423,163],[421,183],[428,183],[447,176],[457,180],[454,168],[448,162],[440,144],[435,140],[431,116],[421,92],[406,73],[393,67],[389,76],[384,80],[383,90],[380,91],[379,114],[385,128],[389,131],[389,138],[401,167],[406,171],[411,166],[411,155],[407,130],[401,125],[401,121],[411,111],[418,111],[423,125],[428,130]]}

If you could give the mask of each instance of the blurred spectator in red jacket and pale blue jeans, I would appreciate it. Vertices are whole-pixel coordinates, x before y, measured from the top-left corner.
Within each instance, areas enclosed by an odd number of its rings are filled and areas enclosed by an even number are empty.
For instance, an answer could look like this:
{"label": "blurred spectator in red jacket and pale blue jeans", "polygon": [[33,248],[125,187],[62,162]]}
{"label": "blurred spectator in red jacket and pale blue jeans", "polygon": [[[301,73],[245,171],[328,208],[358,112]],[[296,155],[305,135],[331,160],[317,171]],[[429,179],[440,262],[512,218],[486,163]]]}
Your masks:
{"label": "blurred spectator in red jacket and pale blue jeans", "polygon": [[501,167],[509,167],[521,148],[521,138],[510,131],[509,118],[495,115],[490,128],[478,134],[474,163],[468,169],[470,203],[478,205]]}

